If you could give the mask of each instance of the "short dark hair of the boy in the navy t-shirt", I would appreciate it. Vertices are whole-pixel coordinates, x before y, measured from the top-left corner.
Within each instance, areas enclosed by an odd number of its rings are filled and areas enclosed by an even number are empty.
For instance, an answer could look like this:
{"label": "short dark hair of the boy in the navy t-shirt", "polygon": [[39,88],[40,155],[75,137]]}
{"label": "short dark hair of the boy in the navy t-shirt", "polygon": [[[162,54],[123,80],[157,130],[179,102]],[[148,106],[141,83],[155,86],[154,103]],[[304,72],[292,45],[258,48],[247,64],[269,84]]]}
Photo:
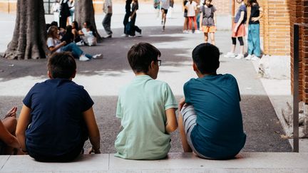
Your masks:
{"label": "short dark hair of the boy in the navy t-shirt", "polygon": [[51,54],[47,66],[52,78],[69,79],[76,72],[76,61],[70,52]]}

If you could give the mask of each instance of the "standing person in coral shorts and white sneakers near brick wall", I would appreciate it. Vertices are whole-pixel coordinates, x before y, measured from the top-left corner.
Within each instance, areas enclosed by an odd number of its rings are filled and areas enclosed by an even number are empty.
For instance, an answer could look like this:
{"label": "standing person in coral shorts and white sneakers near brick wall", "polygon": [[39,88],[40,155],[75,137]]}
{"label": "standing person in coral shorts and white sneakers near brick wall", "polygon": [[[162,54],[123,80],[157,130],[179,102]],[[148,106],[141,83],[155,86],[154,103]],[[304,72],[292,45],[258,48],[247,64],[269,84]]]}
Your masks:
{"label": "standing person in coral shorts and white sneakers near brick wall", "polygon": [[[245,23],[247,20],[247,8],[245,6],[244,0],[235,0],[238,4],[240,4],[239,9],[237,10],[237,14],[235,16],[235,23],[232,26],[232,46],[231,51],[228,52],[225,57],[226,58],[236,58],[242,59],[244,58],[244,40],[243,36],[246,36],[245,31]],[[236,38],[240,41],[240,53],[235,56],[235,46],[236,46]]]}

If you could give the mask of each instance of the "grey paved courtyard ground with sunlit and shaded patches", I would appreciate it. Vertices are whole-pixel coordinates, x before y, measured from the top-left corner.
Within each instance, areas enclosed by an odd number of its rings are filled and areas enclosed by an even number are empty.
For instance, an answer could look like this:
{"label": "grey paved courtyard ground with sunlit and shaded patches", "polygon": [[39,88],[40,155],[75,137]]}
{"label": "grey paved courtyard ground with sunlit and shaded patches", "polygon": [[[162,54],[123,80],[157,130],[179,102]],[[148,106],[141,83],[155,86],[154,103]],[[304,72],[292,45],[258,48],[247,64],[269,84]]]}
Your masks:
{"label": "grey paved courtyard ground with sunlit and shaded patches", "polygon": [[[0,14],[2,23],[11,23],[6,19],[12,16]],[[191,68],[191,51],[202,43],[202,34],[183,34],[181,32],[182,14],[174,13],[173,19],[168,19],[166,31],[161,31],[160,21],[154,14],[140,14],[136,24],[143,29],[143,37],[121,38],[123,28],[120,14],[113,16],[113,38],[106,39],[98,46],[85,47],[87,53],[103,53],[102,59],[89,62],[77,62],[78,75],[74,81],[84,85],[95,102],[94,110],[101,130],[101,146],[103,153],[114,151],[113,142],[119,130],[120,122],[115,117],[118,89],[133,78],[126,60],[126,53],[130,46],[140,41],[152,43],[162,52],[162,66],[158,80],[170,84],[174,94],[179,99],[183,96],[183,83],[195,78]],[[46,19],[50,19],[47,16]],[[101,18],[101,16],[100,16]],[[48,21],[48,20],[46,20]],[[0,21],[1,22],[1,21]],[[101,27],[101,20],[96,24]],[[8,26],[14,28],[14,26]],[[100,28],[98,27],[98,28]],[[12,34],[13,31],[6,31]],[[99,31],[104,35],[104,31]],[[222,53],[230,48],[229,31],[217,31],[217,47]],[[0,40],[5,45],[4,40]],[[1,50],[5,48],[1,47]],[[3,51],[2,51],[3,52]],[[241,108],[244,119],[244,129],[247,133],[245,152],[290,152],[292,148],[287,140],[280,135],[284,134],[274,112],[274,108],[265,93],[260,78],[250,61],[235,60],[220,57],[219,73],[231,73],[237,78],[242,96]],[[7,61],[0,58],[0,114],[16,105],[21,108],[21,100],[31,86],[46,79],[46,59],[30,61]],[[181,152],[178,132],[172,135],[171,152]]]}

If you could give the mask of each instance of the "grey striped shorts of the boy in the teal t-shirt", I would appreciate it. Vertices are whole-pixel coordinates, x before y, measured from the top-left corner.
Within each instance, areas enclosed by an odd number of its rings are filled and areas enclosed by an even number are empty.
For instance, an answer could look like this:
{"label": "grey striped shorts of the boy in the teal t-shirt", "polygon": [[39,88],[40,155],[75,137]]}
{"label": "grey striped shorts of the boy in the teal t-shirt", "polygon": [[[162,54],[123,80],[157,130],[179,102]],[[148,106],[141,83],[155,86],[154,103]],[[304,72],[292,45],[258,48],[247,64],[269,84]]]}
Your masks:
{"label": "grey striped shorts of the boy in the teal t-shirt", "polygon": [[204,155],[200,154],[195,150],[195,147],[193,146],[193,142],[191,140],[190,134],[193,131],[193,128],[196,125],[197,120],[197,114],[195,113],[195,109],[193,108],[193,105],[186,105],[185,107],[180,110],[180,113],[183,118],[183,126],[185,130],[186,140],[188,141],[188,145],[190,145],[190,148],[197,154],[197,156],[205,159],[211,159],[210,157],[205,157]]}

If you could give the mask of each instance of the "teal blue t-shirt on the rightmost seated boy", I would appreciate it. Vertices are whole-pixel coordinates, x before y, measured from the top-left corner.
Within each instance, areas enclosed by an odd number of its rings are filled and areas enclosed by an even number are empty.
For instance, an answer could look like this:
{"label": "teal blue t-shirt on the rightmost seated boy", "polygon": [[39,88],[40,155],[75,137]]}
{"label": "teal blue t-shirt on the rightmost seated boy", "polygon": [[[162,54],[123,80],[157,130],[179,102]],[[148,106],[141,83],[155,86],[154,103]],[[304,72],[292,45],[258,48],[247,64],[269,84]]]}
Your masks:
{"label": "teal blue t-shirt on the rightmost seated boy", "polygon": [[185,83],[184,95],[197,114],[190,134],[195,150],[213,159],[226,159],[240,152],[246,135],[237,80],[230,74],[193,78]]}

